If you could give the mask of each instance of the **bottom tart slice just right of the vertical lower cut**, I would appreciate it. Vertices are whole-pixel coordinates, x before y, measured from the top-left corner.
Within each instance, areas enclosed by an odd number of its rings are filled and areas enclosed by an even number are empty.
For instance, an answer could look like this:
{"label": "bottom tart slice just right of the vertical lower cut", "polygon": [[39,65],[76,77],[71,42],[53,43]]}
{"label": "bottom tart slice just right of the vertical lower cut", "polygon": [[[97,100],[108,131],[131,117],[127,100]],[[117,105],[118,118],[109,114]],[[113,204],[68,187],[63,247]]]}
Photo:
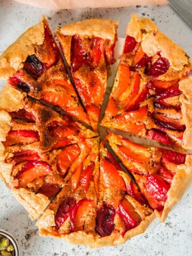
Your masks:
{"label": "bottom tart slice just right of the vertical lower cut", "polygon": [[100,144],[99,201],[96,218],[95,247],[119,245],[143,233],[155,218],[142,195],[130,193],[137,189],[129,175]]}

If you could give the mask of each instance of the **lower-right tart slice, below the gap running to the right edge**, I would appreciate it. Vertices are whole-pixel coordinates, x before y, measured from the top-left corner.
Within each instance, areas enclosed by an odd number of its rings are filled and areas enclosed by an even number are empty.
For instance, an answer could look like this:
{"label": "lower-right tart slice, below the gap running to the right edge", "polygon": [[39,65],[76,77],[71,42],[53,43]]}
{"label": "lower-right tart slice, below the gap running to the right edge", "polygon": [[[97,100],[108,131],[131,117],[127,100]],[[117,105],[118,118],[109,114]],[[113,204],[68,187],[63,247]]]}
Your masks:
{"label": "lower-right tart slice, below the gap running to the right edge", "polygon": [[107,140],[133,174],[148,205],[164,221],[191,182],[191,155],[138,145],[114,133],[110,133]]}

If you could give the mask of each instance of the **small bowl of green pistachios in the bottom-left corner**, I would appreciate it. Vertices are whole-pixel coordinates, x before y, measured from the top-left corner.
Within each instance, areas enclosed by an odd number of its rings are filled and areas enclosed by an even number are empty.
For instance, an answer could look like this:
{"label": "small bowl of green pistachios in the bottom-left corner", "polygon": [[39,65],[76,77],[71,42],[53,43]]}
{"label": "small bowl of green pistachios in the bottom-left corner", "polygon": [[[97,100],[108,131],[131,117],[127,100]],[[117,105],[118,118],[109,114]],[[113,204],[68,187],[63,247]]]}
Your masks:
{"label": "small bowl of green pistachios in the bottom-left corner", "polygon": [[17,241],[5,230],[0,230],[0,255],[19,256]]}

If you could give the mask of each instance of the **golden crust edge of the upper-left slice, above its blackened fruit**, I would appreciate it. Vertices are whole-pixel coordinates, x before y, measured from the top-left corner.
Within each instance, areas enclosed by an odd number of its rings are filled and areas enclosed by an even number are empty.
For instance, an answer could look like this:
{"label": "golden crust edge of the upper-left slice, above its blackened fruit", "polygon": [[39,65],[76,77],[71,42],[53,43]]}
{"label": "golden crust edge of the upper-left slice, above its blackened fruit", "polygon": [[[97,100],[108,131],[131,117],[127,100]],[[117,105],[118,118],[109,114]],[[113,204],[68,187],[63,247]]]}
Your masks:
{"label": "golden crust edge of the upper-left slice, above its blackened fruit", "polygon": [[[43,17],[44,19],[44,17]],[[0,57],[0,78],[7,79],[17,71],[28,55],[35,53],[35,44],[44,41],[43,21],[27,29]]]}

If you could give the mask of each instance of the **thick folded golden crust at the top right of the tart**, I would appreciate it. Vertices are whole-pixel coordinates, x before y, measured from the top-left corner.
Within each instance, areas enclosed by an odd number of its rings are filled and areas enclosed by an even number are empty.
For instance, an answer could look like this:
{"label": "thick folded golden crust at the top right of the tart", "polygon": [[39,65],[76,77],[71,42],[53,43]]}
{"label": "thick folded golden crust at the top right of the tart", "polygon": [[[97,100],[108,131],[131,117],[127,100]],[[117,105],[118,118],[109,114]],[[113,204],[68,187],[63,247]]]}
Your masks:
{"label": "thick folded golden crust at the top right of the tart", "polygon": [[169,60],[174,70],[182,70],[185,65],[189,64],[190,60],[185,51],[159,31],[150,19],[133,14],[126,34],[134,37],[137,42],[141,42],[142,50],[148,56],[161,51],[161,56]]}

